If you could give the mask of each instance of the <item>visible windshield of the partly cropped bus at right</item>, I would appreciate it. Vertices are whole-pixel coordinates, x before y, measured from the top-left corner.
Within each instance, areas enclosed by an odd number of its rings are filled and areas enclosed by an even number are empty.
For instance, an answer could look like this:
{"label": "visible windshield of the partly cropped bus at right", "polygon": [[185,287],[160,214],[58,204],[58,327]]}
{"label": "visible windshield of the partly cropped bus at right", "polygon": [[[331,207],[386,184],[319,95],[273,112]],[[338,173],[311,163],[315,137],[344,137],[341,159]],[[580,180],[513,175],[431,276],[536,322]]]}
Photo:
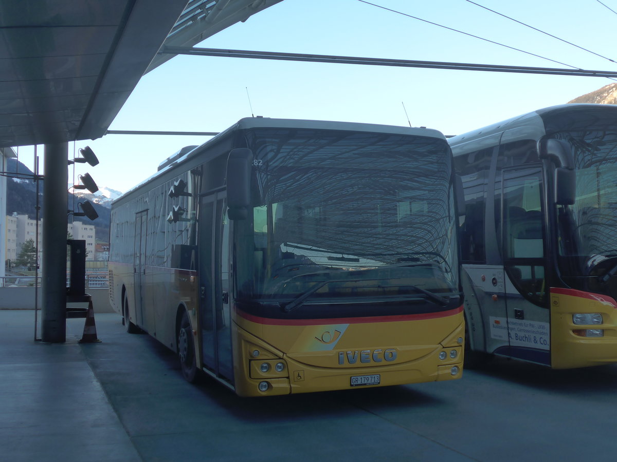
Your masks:
{"label": "visible windshield of the partly cropped bus at right", "polygon": [[562,132],[576,168],[574,205],[558,206],[564,277],[603,277],[617,264],[617,131]]}

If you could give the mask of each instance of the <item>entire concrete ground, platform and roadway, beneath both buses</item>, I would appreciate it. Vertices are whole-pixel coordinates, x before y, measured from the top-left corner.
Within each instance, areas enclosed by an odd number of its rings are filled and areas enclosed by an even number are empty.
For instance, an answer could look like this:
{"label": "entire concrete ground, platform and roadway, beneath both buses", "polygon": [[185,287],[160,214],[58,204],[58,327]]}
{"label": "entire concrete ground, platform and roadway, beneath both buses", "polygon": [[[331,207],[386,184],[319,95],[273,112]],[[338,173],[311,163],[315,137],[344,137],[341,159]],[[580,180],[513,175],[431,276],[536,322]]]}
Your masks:
{"label": "entire concrete ground, platform and roadway, beneath both buses", "polygon": [[[95,307],[96,309],[96,307]],[[612,462],[617,365],[495,359],[463,379],[243,399],[181,377],[173,352],[97,313],[100,343],[33,341],[0,310],[0,461]]]}

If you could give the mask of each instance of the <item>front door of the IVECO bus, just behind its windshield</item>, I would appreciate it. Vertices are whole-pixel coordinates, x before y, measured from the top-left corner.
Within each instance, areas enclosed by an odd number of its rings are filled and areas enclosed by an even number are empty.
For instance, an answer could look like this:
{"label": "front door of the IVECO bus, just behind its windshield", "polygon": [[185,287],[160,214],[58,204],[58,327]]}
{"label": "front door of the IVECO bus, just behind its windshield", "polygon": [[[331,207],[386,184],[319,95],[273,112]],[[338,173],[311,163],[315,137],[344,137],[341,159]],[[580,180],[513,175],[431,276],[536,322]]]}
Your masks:
{"label": "front door of the IVECO bus, just behind its windshield", "polygon": [[229,221],[225,193],[199,206],[199,318],[204,367],[233,383],[229,304]]}

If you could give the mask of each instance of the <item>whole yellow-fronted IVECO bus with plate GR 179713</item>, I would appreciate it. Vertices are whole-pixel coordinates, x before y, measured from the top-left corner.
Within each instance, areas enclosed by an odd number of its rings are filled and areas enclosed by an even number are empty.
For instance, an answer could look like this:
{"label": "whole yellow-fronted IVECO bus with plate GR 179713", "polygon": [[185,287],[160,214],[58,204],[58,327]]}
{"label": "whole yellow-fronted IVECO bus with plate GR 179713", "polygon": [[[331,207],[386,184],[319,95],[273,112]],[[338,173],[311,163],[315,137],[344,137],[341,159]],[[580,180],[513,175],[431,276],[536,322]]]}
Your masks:
{"label": "whole yellow-fronted IVECO bus with plate GR 179713", "polygon": [[455,183],[434,130],[243,119],[114,201],[112,306],[243,396],[460,378]]}

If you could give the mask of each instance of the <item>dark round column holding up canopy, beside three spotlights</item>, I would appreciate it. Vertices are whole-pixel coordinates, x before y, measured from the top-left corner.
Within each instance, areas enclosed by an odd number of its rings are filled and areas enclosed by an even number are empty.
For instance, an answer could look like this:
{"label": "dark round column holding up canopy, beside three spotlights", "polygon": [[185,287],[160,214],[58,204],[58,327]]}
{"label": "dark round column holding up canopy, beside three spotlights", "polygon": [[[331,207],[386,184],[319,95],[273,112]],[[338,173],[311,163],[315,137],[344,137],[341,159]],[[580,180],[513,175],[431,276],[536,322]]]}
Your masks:
{"label": "dark round column holding up canopy, beside three spotlights", "polygon": [[43,185],[41,340],[67,339],[68,143],[46,144]]}

